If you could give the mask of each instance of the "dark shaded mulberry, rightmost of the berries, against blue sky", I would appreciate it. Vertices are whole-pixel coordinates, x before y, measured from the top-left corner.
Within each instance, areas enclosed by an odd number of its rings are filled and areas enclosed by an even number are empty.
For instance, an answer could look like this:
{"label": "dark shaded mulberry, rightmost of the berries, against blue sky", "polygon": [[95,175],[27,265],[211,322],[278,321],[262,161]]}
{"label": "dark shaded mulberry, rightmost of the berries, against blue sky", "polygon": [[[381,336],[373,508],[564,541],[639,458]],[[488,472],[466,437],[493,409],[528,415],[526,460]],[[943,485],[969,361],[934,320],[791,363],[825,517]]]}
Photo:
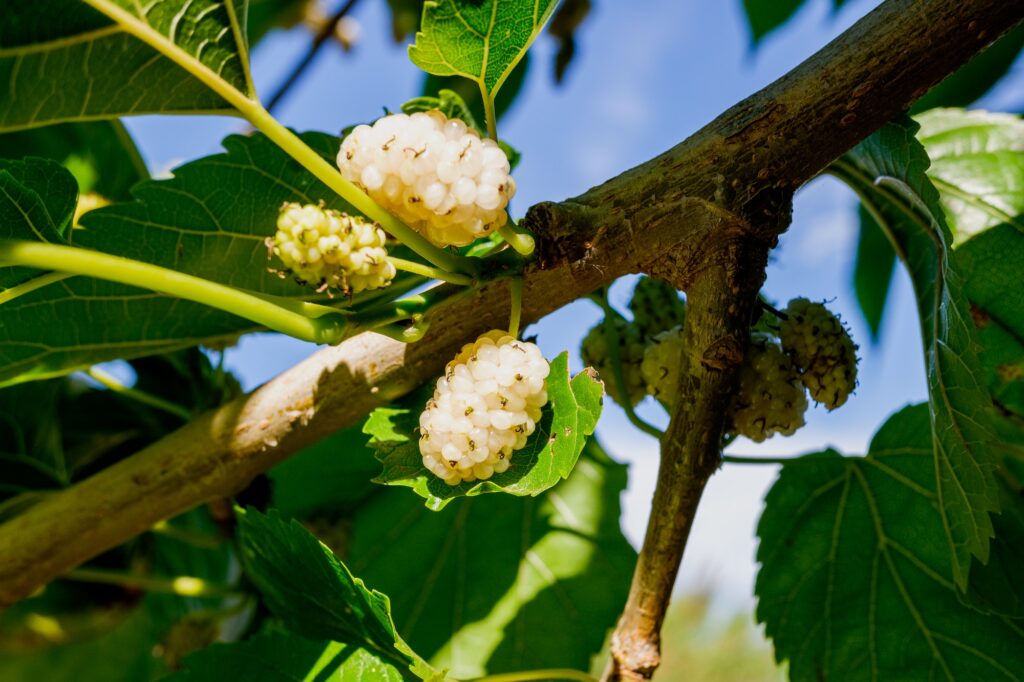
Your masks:
{"label": "dark shaded mulberry, rightmost of the berries, against blue sky", "polygon": [[811,397],[835,410],[857,386],[857,346],[843,323],[821,303],[795,298],[779,326],[782,347],[803,371]]}

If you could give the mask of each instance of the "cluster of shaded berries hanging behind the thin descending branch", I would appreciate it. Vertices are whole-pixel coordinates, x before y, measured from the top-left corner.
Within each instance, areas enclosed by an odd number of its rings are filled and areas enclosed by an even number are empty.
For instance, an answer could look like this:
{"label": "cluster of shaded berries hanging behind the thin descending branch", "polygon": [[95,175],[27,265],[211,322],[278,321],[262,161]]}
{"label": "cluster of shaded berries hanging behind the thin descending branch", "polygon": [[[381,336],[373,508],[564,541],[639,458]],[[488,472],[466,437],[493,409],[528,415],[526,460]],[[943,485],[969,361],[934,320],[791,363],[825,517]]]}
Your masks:
{"label": "cluster of shaded berries hanging behind the thin descending branch", "polygon": [[[588,333],[582,348],[584,361],[604,377],[608,394],[616,402],[628,400],[633,407],[649,393],[671,408],[676,399],[685,399],[678,392],[685,303],[670,285],[643,279],[630,308],[633,322],[614,316]],[[856,346],[839,317],[823,304],[794,299],[779,321],[777,335],[751,334],[729,407],[729,431],[759,442],[776,433],[792,435],[804,425],[808,392],[815,401],[835,410],[857,384]],[[618,344],[625,398],[614,380],[609,336]]]}

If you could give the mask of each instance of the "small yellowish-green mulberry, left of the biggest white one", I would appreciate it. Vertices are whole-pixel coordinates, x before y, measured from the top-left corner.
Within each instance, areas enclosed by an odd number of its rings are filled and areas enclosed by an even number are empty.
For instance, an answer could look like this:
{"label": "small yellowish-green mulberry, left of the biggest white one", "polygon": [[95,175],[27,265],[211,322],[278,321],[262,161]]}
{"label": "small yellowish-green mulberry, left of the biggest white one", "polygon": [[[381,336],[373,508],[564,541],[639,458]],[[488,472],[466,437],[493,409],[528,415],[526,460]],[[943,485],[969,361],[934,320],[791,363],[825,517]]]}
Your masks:
{"label": "small yellowish-green mulberry, left of the biggest white one", "polygon": [[390,284],[395,267],[385,241],[383,229],[360,217],[312,204],[285,204],[267,248],[299,282],[349,294]]}

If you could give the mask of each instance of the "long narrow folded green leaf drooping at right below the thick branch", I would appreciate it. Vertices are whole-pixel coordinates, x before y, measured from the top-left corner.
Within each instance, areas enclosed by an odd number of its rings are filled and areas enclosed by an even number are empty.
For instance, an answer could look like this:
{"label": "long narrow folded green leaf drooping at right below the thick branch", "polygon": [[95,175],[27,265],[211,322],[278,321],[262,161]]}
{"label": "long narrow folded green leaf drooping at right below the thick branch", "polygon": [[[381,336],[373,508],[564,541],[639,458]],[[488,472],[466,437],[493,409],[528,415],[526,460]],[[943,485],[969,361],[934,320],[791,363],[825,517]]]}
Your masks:
{"label": "long narrow folded green leaf drooping at right below the thick branch", "polygon": [[998,511],[990,400],[929,161],[910,120],[890,123],[834,165],[880,221],[910,273],[925,342],[939,510],[957,585],[988,559]]}

